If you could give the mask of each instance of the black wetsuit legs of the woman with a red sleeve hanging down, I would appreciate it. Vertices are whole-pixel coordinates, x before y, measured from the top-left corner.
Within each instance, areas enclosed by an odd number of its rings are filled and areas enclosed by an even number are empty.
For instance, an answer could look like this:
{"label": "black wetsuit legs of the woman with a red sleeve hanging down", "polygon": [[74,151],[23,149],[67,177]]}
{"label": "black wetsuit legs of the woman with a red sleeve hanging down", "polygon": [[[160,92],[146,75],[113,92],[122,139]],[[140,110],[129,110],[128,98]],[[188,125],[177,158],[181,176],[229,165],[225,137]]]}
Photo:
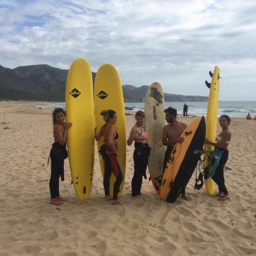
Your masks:
{"label": "black wetsuit legs of the woman with a red sleeve hanging down", "polygon": [[[104,178],[103,178],[103,186],[104,186],[104,191],[105,191],[105,196],[110,195],[110,177],[113,172],[112,166],[111,166],[111,161],[106,154],[104,156]],[[120,185],[123,181],[123,174],[121,171],[121,168],[117,162],[117,170],[118,170],[118,176],[116,177],[116,181],[114,183],[114,188],[113,188],[113,199],[117,199],[117,195],[119,192]]]}

